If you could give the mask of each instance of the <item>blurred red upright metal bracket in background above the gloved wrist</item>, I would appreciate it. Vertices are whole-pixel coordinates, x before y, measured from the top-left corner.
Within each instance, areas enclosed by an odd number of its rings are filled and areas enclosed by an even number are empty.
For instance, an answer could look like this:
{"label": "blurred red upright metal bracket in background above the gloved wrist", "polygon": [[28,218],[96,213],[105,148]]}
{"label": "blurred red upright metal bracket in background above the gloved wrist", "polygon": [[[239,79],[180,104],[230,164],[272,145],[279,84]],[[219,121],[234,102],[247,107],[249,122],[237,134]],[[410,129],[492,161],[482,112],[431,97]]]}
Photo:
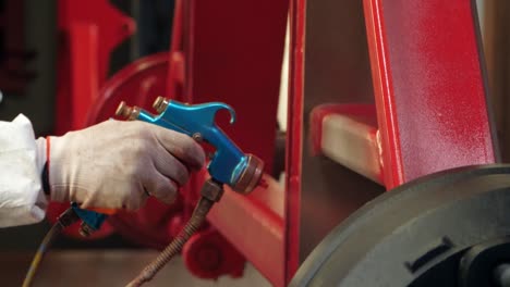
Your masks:
{"label": "blurred red upright metal bracket in background above the gloved wrist", "polygon": [[85,127],[108,76],[111,51],[135,32],[134,21],[107,0],[58,2],[58,90],[54,133]]}

